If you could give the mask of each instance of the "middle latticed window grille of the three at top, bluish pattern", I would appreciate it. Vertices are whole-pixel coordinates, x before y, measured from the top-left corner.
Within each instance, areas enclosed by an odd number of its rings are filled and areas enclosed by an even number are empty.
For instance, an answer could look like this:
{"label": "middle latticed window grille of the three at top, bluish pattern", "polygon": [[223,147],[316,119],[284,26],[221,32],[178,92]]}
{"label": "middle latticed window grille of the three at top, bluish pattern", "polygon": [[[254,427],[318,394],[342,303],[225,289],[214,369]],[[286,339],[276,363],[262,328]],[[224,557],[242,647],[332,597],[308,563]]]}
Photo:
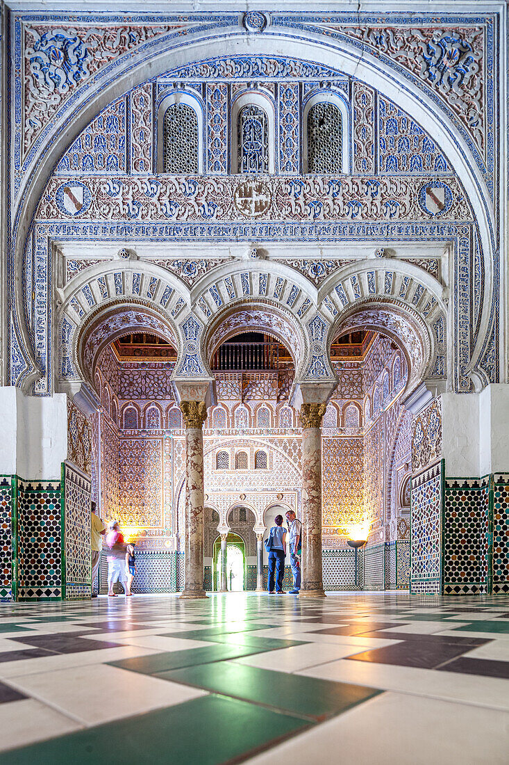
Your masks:
{"label": "middle latticed window grille of the three at top, bluish pattern", "polygon": [[268,121],[260,106],[244,106],[238,112],[238,172],[268,172]]}

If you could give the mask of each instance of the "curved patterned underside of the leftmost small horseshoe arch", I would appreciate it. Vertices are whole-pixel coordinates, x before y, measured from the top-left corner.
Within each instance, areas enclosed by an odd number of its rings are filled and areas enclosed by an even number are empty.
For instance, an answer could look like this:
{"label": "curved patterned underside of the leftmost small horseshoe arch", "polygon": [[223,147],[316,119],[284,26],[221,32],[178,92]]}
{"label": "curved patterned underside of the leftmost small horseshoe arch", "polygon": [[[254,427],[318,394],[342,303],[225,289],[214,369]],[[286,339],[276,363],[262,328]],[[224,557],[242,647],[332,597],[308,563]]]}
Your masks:
{"label": "curved patterned underside of the leftmost small horseshoe arch", "polygon": [[[67,359],[70,376],[62,376],[60,387],[68,388],[66,382],[85,382],[95,389],[96,366],[102,350],[118,337],[129,332],[147,332],[167,340],[177,349],[177,331],[173,322],[163,311],[137,298],[112,300],[91,311],[83,321],[76,324],[60,350],[60,360]],[[68,318],[63,314],[60,327],[67,327]],[[60,338],[63,337],[63,331]]]}

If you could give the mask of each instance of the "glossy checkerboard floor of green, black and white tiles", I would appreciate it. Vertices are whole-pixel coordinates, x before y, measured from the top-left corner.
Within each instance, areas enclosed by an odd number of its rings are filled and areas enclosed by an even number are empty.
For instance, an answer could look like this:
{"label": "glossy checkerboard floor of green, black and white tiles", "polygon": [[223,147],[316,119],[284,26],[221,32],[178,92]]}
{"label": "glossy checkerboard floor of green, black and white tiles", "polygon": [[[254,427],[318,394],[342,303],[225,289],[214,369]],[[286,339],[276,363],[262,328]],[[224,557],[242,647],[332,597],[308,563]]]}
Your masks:
{"label": "glossy checkerboard floor of green, black and white tiles", "polygon": [[509,762],[509,597],[0,604],[3,763]]}

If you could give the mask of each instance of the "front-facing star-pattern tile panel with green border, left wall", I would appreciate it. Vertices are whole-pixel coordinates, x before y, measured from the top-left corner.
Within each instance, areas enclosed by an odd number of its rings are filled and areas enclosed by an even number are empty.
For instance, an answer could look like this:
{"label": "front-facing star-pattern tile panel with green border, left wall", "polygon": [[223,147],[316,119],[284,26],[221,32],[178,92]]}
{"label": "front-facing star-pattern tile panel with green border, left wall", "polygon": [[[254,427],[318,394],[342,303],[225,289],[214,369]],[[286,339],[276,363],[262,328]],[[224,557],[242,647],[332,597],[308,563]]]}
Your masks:
{"label": "front-facing star-pattern tile panel with green border, left wall", "polygon": [[60,481],[18,481],[18,597],[62,597]]}

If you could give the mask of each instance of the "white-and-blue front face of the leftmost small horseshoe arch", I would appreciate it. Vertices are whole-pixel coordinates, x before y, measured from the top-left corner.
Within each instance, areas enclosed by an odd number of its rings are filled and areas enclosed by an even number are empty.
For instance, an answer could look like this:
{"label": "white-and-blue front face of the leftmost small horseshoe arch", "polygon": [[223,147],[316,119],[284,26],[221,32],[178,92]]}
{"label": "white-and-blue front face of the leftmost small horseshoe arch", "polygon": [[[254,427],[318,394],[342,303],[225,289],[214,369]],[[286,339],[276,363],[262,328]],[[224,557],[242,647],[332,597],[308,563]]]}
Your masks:
{"label": "white-and-blue front face of the leftmost small horseshoe arch", "polygon": [[189,306],[189,291],[180,279],[153,263],[102,261],[79,272],[56,292],[58,331],[53,352],[57,357],[57,380],[81,377],[73,340],[90,317],[112,305],[150,307],[171,328],[175,350],[180,350],[176,320]]}

